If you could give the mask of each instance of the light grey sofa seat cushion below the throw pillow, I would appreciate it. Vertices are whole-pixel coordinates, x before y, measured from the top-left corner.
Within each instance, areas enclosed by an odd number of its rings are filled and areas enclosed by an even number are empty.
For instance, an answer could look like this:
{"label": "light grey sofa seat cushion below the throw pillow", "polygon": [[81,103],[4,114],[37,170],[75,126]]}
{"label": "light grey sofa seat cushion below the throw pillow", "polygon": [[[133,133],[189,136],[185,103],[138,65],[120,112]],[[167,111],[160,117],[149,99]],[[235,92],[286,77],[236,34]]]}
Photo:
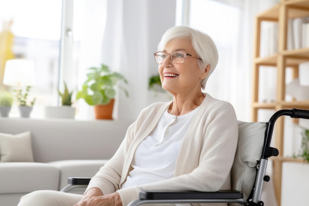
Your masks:
{"label": "light grey sofa seat cushion below the throw pillow", "polygon": [[0,194],[58,190],[60,172],[46,163],[1,163]]}

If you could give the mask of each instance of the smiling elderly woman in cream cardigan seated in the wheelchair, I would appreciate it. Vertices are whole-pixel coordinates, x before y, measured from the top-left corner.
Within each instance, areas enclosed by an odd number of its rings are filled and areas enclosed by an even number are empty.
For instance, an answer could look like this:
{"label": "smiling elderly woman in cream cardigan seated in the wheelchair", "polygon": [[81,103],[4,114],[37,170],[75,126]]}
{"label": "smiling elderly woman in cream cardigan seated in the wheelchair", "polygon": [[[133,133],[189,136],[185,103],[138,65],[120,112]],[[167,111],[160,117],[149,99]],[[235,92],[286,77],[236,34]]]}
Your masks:
{"label": "smiling elderly woman in cream cardigan seated in the wheelchair", "polygon": [[173,101],[154,103],[140,113],[83,196],[36,191],[18,206],[126,206],[141,189],[231,188],[235,112],[230,103],[202,92],[218,62],[214,42],[190,27],[173,27],[163,35],[154,59]]}

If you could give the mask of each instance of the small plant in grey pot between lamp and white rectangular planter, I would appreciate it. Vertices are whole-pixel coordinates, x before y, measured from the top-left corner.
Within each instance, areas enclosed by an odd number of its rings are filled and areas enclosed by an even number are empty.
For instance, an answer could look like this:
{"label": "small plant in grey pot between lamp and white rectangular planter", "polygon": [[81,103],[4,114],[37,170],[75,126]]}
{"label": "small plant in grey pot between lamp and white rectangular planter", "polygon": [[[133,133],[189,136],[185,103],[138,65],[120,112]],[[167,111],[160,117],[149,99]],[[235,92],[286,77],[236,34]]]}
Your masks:
{"label": "small plant in grey pot between lamp and white rectangular planter", "polygon": [[36,98],[33,98],[32,100],[28,99],[30,88],[31,86],[26,86],[25,91],[23,91],[23,89],[14,90],[16,92],[19,114],[20,117],[23,118],[30,117],[31,111],[36,102]]}

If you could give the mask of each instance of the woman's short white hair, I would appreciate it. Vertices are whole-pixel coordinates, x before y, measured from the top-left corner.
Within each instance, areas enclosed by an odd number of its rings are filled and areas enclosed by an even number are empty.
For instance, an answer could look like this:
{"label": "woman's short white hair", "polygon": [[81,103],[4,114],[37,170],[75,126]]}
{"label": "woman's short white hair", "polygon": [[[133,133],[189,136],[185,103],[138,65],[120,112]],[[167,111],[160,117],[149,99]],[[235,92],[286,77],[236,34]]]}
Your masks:
{"label": "woman's short white hair", "polygon": [[158,44],[158,51],[164,50],[167,43],[177,41],[179,39],[189,39],[192,42],[193,48],[201,60],[197,59],[199,67],[204,70],[207,65],[210,65],[210,70],[205,79],[202,80],[201,88],[204,89],[206,82],[215,70],[218,63],[218,50],[214,41],[205,33],[195,30],[188,26],[175,26],[168,29],[161,41]]}

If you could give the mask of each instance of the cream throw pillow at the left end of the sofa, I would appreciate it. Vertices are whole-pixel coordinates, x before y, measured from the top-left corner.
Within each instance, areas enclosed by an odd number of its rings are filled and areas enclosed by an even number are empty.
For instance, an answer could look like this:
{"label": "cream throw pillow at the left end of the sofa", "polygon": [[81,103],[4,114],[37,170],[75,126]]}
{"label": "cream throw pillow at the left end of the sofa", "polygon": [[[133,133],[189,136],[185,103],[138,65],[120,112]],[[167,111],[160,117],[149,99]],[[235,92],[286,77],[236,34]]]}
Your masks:
{"label": "cream throw pillow at the left end of the sofa", "polygon": [[34,162],[31,133],[0,133],[0,162]]}

